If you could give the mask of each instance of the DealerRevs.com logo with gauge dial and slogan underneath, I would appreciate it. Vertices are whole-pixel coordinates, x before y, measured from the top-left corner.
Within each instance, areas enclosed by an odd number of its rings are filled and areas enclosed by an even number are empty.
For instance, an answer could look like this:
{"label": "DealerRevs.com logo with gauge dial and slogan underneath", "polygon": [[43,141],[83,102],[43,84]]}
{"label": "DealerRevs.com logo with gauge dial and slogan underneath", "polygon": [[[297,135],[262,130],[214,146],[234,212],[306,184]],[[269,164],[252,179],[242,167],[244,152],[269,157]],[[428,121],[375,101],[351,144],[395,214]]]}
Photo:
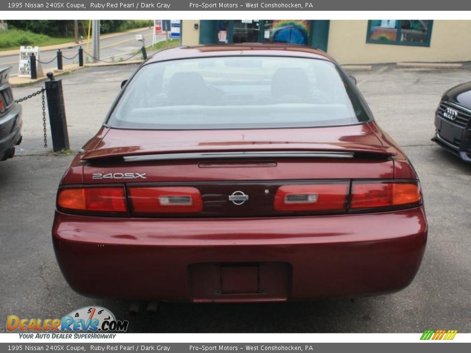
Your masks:
{"label": "DealerRevs.com logo with gauge dial and slogan underneath", "polygon": [[[126,332],[128,325],[129,321],[116,320],[111,311],[100,306],[85,306],[72,311],[61,319],[20,319],[16,315],[9,315],[6,319],[6,329],[10,332],[19,330],[20,332],[36,333],[20,333],[22,338],[72,338],[72,333],[83,331],[93,333]],[[115,335],[94,336],[96,338],[114,338]],[[94,337],[75,334],[74,338]]]}

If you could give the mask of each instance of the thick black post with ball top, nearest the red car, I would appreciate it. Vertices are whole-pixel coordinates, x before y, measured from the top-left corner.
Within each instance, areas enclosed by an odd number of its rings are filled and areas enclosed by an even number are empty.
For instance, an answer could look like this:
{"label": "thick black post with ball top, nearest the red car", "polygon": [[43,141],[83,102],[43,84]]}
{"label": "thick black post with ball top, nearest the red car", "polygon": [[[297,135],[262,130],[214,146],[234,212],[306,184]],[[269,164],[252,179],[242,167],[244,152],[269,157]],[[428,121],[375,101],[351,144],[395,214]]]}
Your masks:
{"label": "thick black post with ball top, nearest the red car", "polygon": [[49,122],[51,124],[52,149],[54,152],[68,150],[69,133],[65,118],[64,94],[62,81],[55,80],[52,73],[47,73],[50,81],[46,81],[46,96],[48,100]]}

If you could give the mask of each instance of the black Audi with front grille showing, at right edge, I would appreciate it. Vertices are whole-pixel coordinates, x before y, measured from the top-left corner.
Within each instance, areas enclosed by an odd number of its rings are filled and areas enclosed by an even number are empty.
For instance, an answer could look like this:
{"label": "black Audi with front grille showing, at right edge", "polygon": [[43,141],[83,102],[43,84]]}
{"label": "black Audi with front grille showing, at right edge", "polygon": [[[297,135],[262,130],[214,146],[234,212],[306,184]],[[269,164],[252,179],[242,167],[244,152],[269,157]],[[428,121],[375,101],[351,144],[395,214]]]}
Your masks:
{"label": "black Audi with front grille showing, at right edge", "polygon": [[471,162],[471,82],[450,88],[435,114],[432,141]]}

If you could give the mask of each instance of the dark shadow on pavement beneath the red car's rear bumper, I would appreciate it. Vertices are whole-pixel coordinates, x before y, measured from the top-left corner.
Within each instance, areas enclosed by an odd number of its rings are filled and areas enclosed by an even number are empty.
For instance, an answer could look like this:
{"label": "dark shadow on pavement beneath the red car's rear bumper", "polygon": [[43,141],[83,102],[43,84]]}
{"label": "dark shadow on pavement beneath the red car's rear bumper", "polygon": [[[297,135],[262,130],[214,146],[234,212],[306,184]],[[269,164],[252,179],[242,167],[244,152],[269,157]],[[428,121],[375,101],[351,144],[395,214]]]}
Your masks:
{"label": "dark shadow on pavement beneath the red car's rear bumper", "polygon": [[290,303],[158,303],[155,313],[148,313],[142,304],[134,315],[127,312],[129,306],[123,306],[123,302],[100,304],[111,309],[118,320],[129,320],[129,332],[370,332],[375,305],[381,305],[379,302],[384,298]]}

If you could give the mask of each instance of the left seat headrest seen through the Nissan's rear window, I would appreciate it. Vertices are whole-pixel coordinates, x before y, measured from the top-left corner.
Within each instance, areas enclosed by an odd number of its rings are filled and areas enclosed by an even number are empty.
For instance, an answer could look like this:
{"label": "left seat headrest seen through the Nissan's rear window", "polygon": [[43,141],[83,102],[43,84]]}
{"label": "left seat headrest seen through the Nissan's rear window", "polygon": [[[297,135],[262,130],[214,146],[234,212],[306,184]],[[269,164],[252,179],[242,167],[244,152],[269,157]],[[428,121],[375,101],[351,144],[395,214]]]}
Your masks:
{"label": "left seat headrest seen through the Nissan's rear window", "polygon": [[168,98],[176,104],[198,104],[207,99],[208,87],[196,72],[176,73],[168,84]]}

